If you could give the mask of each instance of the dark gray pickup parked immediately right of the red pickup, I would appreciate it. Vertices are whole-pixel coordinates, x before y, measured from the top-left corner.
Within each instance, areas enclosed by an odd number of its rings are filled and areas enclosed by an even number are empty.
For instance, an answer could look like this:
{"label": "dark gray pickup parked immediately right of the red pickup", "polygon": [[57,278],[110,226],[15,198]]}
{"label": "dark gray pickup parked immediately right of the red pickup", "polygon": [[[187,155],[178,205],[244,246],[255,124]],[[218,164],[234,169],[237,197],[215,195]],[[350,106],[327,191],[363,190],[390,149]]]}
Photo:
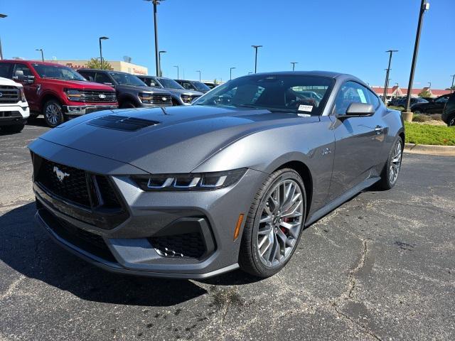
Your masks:
{"label": "dark gray pickup parked immediately right of the red pickup", "polygon": [[85,79],[114,87],[120,108],[168,107],[172,105],[171,94],[157,90],[127,72],[112,70],[77,70]]}

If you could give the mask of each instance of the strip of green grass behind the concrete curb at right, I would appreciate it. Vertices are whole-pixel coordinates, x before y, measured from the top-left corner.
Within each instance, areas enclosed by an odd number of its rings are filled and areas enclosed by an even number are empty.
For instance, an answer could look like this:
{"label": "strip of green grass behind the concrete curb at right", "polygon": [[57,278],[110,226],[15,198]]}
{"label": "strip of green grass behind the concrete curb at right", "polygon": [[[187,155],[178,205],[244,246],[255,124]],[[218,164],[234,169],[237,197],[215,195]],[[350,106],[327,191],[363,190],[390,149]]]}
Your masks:
{"label": "strip of green grass behind the concrete curb at right", "polygon": [[407,144],[455,146],[454,126],[431,126],[405,122],[405,129]]}

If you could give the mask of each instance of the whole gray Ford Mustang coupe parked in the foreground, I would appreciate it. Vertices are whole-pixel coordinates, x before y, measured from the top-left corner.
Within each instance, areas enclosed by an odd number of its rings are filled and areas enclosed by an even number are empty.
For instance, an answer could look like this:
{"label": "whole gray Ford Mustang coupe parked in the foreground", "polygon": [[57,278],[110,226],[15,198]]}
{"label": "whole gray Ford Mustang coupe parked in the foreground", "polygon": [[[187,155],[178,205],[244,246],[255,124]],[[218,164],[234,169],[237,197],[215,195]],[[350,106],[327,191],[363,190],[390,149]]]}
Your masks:
{"label": "whole gray Ford Mustang coupe parked in the foreground", "polygon": [[109,271],[272,276],[305,227],[395,185],[404,141],[400,112],[353,76],[249,75],[190,107],[96,112],[43,134],[30,145],[36,220]]}

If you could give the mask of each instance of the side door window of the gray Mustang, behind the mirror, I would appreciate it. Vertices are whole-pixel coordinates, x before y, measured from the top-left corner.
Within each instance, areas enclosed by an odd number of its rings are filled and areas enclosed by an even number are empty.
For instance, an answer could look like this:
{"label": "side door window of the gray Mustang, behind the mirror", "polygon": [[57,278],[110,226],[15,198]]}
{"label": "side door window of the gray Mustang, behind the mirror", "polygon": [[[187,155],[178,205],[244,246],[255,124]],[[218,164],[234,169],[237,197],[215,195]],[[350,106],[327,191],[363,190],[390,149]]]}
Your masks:
{"label": "side door window of the gray Mustang, behind the mirror", "polygon": [[378,97],[363,85],[356,82],[346,82],[341,86],[335,99],[334,114],[344,115],[351,103],[373,104],[376,109],[379,105]]}

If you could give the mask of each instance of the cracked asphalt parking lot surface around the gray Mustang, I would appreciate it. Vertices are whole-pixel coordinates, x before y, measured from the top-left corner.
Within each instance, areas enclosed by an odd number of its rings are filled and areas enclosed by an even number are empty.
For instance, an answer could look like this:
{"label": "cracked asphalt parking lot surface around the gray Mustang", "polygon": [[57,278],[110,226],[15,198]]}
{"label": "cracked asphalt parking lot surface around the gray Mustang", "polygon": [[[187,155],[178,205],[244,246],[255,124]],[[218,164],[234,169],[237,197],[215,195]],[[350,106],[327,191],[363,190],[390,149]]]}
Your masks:
{"label": "cracked asphalt parking lot surface around the gray Mustang", "polygon": [[0,133],[0,340],[455,340],[455,158],[405,154],[304,231],[276,276],[204,281],[109,274],[33,223],[26,145]]}

